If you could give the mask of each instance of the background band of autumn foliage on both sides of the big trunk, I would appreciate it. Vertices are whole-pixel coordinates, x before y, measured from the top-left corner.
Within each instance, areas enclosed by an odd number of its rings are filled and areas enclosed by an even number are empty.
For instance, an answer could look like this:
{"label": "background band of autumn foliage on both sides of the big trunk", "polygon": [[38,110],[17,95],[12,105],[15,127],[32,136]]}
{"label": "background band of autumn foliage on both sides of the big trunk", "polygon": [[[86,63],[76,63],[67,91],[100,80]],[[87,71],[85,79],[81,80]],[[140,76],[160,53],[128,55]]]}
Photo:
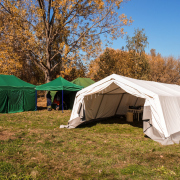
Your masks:
{"label": "background band of autumn foliage on both sides of the big trunk", "polygon": [[[133,37],[126,38],[126,47],[117,50],[107,47],[103,52],[99,51],[98,57],[91,59],[88,64],[80,58],[76,58],[73,64],[72,61],[67,61],[67,68],[62,71],[62,66],[58,66],[51,73],[51,78],[62,76],[72,81],[77,77],[89,77],[98,81],[115,73],[136,79],[180,84],[180,59],[173,56],[162,57],[155,49],[151,49],[150,54],[145,53],[148,38],[144,29],[136,29]],[[28,60],[17,58],[16,61],[17,63],[11,62],[11,59],[7,61],[0,56],[2,64],[8,63],[8,68],[6,65],[1,66],[0,73],[16,75],[35,85],[45,83],[44,72],[38,66]]]}

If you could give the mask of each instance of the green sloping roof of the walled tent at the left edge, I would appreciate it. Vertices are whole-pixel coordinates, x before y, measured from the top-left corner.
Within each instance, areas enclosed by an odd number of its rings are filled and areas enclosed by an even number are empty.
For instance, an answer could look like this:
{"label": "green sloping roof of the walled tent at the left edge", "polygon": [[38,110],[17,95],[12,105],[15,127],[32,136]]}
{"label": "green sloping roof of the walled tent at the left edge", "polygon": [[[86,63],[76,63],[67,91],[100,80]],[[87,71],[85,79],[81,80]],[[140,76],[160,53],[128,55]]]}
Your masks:
{"label": "green sloping roof of the walled tent at the left edge", "polygon": [[35,85],[27,83],[14,75],[0,74],[0,88],[35,88]]}

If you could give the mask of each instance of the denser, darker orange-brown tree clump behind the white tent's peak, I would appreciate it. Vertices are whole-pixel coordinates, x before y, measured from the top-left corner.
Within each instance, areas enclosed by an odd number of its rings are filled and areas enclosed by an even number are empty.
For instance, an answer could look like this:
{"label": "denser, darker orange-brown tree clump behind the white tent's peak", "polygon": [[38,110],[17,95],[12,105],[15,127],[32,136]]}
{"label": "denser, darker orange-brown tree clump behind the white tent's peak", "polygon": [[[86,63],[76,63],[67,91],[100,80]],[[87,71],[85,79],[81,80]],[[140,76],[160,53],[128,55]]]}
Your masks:
{"label": "denser, darker orange-brown tree clump behind the white tent's peak", "polygon": [[111,74],[119,74],[136,79],[148,78],[149,64],[144,54],[106,48],[89,65],[88,76],[98,81]]}

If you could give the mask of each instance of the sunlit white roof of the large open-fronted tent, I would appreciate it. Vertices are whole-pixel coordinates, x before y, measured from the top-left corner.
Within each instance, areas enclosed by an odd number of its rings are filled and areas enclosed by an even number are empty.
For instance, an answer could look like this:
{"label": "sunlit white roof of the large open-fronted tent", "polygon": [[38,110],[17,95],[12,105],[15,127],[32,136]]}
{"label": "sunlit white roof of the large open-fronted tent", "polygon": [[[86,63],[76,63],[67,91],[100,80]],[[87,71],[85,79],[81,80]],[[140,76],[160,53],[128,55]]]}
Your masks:
{"label": "sunlit white roof of the large open-fronted tent", "polygon": [[[154,82],[154,81],[146,81],[146,80],[139,80],[139,79],[133,79],[117,74],[112,74],[94,84],[92,84],[90,87],[84,88],[81,91],[78,92],[78,94],[86,93],[86,95],[94,94],[97,92],[102,91],[101,86],[105,83],[111,84],[114,82],[115,84],[121,84],[118,85],[123,88],[124,85],[126,87],[135,88],[137,91],[143,93],[144,95],[148,95],[149,97],[154,97],[156,95],[158,96],[180,96],[180,86],[176,84],[166,84],[166,83],[160,83],[160,82]],[[114,93],[116,90],[116,87],[113,89],[109,89],[109,93]],[[102,93],[102,92],[101,92]],[[106,93],[108,93],[108,90],[106,90]],[[117,93],[117,92],[116,92]],[[77,94],[77,95],[78,95]]]}

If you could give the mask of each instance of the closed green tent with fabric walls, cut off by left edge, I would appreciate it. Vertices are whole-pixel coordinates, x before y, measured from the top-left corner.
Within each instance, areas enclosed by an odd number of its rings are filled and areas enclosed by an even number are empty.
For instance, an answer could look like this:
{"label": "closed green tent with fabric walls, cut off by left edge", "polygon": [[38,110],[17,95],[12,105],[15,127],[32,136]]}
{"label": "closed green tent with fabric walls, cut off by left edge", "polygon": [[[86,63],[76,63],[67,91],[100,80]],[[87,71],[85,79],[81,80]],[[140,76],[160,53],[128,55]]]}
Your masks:
{"label": "closed green tent with fabric walls, cut off by left edge", "polygon": [[0,113],[36,110],[35,86],[14,75],[0,74]]}

